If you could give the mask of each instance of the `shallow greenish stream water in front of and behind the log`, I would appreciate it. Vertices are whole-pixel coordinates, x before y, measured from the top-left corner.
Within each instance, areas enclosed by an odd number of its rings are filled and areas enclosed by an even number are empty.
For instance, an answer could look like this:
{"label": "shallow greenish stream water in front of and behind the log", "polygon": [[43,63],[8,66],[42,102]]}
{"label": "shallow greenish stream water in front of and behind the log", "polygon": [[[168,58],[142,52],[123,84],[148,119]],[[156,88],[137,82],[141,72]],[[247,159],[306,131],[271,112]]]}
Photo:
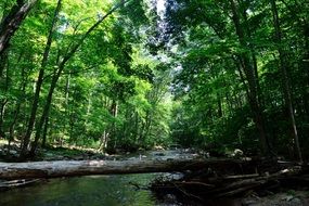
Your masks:
{"label": "shallow greenish stream water in front of and behind the log", "polygon": [[[191,158],[178,151],[150,152],[126,158]],[[171,206],[183,205],[170,197],[158,201],[147,185],[163,173],[88,176],[46,180],[27,188],[0,193],[0,206]],[[186,204],[185,204],[186,205]],[[196,205],[196,204],[193,204]],[[213,205],[213,204],[209,204]],[[217,205],[217,204],[215,204]]]}

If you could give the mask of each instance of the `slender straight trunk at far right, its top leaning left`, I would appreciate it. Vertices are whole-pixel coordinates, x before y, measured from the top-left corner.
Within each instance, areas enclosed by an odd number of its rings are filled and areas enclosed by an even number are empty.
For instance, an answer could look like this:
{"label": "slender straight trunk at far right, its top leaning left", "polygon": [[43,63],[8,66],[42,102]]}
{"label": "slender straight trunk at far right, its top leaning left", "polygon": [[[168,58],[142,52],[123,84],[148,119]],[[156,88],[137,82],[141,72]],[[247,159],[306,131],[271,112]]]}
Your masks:
{"label": "slender straight trunk at far right, its top leaning left", "polygon": [[271,10],[272,10],[272,16],[273,16],[273,26],[275,30],[275,42],[278,43],[278,53],[279,53],[279,60],[280,60],[280,68],[281,68],[281,76],[282,76],[282,83],[283,83],[283,93],[284,93],[284,100],[286,107],[288,110],[288,118],[289,124],[292,128],[292,136],[293,136],[293,142],[295,143],[295,149],[297,153],[298,160],[302,162],[298,134],[297,134],[297,127],[295,123],[295,114],[292,103],[292,94],[291,94],[291,86],[287,75],[287,68],[286,68],[286,59],[285,59],[285,51],[282,48],[282,35],[281,35],[281,28],[280,28],[280,21],[279,21],[279,14],[278,9],[275,4],[275,0],[271,0]]}

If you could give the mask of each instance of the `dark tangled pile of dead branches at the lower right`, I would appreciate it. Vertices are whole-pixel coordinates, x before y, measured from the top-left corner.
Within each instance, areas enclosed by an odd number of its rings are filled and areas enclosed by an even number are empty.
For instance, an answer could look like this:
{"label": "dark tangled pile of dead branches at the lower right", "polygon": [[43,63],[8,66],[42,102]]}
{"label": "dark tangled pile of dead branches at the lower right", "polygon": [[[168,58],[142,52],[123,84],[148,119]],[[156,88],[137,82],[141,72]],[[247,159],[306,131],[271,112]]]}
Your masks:
{"label": "dark tangled pile of dead branches at the lower right", "polygon": [[[272,167],[269,167],[269,166]],[[197,201],[242,196],[248,193],[267,192],[281,186],[309,186],[308,165],[280,163],[276,160],[242,162],[236,167],[211,167],[184,176],[180,180],[157,180],[152,183],[157,196],[172,193],[179,196],[193,197]]]}

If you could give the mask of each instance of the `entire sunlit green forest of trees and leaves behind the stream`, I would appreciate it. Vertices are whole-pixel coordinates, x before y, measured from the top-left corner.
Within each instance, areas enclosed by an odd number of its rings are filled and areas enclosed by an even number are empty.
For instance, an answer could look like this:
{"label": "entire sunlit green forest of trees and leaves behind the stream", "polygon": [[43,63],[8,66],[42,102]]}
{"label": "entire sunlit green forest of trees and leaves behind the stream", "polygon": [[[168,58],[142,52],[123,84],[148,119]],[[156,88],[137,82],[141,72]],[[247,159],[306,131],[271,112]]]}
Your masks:
{"label": "entire sunlit green forest of trees and leaves behind the stream", "polygon": [[308,11],[306,0],[2,0],[0,138],[21,157],[177,143],[301,160]]}

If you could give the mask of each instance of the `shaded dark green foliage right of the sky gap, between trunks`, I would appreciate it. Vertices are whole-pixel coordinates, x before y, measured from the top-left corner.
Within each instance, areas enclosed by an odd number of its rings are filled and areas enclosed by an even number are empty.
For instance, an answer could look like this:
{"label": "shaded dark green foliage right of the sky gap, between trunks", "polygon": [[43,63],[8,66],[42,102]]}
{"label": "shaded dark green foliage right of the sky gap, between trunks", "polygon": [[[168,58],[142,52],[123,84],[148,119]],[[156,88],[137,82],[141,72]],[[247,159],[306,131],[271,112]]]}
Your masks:
{"label": "shaded dark green foliage right of the sky gap, between trunks", "polygon": [[[308,68],[308,64],[304,64],[308,54],[308,37],[304,35],[304,25],[308,26],[308,18],[302,18],[305,9],[298,8],[296,12],[292,8],[297,3],[276,1],[283,35],[279,47],[285,48],[288,56],[288,79],[282,80],[273,13],[267,1],[168,2],[168,33],[181,46],[173,54],[181,56],[176,60],[180,69],[173,81],[173,91],[180,102],[173,110],[173,138],[186,146],[194,144],[209,150],[215,145],[223,151],[239,147],[247,153],[258,153],[257,108],[250,102],[255,91],[270,149],[280,154],[289,151],[293,157],[296,149],[283,81],[291,81],[296,127],[300,142],[305,143],[307,129],[304,125],[308,125],[308,111],[305,112],[308,102],[304,102],[308,95],[304,93],[305,88],[308,89],[308,81],[304,81],[308,80],[308,70],[302,70]],[[297,15],[292,17],[292,11]],[[239,66],[243,56],[247,63]],[[245,64],[256,67],[255,80],[248,69],[242,70]],[[256,82],[255,89],[252,81]]]}

